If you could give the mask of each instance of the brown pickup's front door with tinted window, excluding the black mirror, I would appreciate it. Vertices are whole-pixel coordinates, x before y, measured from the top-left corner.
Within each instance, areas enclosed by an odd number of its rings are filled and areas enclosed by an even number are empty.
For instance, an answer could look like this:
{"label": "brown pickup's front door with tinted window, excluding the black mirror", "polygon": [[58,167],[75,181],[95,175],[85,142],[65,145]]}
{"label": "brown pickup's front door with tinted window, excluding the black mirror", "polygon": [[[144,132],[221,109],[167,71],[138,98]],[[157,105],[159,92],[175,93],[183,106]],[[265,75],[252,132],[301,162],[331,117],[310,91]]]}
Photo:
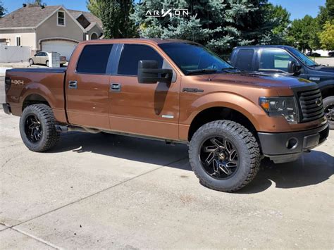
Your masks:
{"label": "brown pickup's front door with tinted window, excluding the black mirror", "polygon": [[[140,84],[140,60],[158,61],[160,68],[171,68],[152,46],[118,44],[119,58],[111,73],[109,115],[111,130],[136,135],[178,139],[180,77],[171,84]],[[175,73],[174,73],[175,74]]]}

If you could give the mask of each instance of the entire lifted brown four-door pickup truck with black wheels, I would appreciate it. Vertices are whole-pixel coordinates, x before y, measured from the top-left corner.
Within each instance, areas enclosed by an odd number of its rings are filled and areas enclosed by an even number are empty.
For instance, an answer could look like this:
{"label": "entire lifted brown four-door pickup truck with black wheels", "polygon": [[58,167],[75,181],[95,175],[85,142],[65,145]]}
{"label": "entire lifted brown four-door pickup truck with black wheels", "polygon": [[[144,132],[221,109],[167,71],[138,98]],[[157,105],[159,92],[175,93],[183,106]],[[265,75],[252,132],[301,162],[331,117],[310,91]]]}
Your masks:
{"label": "entire lifted brown four-door pickup truck with black wheels", "polygon": [[189,143],[199,180],[225,192],[251,182],[261,158],[294,161],[328,137],[314,82],[242,72],[181,40],[82,42],[67,68],[7,70],[5,90],[32,151],[73,130]]}

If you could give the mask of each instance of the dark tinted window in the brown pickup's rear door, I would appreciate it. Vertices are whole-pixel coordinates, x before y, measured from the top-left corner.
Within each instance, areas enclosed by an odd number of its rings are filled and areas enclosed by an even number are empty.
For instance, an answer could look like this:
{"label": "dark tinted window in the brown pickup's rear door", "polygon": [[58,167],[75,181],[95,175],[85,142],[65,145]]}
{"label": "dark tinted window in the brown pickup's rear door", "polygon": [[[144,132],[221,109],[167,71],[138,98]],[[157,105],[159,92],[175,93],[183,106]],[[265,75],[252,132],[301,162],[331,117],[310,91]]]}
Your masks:
{"label": "dark tinted window in the brown pickup's rear door", "polygon": [[86,45],[80,55],[77,72],[105,74],[112,47],[113,44]]}

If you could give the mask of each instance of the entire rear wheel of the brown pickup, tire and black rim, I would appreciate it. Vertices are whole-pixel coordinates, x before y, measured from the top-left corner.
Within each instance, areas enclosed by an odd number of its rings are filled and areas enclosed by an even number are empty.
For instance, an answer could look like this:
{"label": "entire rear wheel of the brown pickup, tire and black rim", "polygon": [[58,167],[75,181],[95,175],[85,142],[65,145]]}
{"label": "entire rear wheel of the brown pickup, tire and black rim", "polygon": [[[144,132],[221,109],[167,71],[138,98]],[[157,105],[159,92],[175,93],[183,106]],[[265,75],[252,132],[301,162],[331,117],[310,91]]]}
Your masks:
{"label": "entire rear wheel of the brown pickup, tire and black rim", "polygon": [[60,137],[51,108],[45,104],[27,106],[20,117],[20,135],[28,149],[42,152],[51,149]]}

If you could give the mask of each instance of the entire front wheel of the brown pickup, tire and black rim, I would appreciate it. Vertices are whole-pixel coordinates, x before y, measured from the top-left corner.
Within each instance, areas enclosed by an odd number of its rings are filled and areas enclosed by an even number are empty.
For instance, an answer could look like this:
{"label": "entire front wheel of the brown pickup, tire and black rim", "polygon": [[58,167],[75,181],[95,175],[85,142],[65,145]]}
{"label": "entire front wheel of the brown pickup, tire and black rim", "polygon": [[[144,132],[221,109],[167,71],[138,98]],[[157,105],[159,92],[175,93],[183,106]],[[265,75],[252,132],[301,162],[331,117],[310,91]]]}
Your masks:
{"label": "entire front wheel of the brown pickup, tire and black rim", "polygon": [[239,123],[216,120],[194,133],[189,158],[204,186],[234,192],[251,182],[259,171],[259,144]]}

